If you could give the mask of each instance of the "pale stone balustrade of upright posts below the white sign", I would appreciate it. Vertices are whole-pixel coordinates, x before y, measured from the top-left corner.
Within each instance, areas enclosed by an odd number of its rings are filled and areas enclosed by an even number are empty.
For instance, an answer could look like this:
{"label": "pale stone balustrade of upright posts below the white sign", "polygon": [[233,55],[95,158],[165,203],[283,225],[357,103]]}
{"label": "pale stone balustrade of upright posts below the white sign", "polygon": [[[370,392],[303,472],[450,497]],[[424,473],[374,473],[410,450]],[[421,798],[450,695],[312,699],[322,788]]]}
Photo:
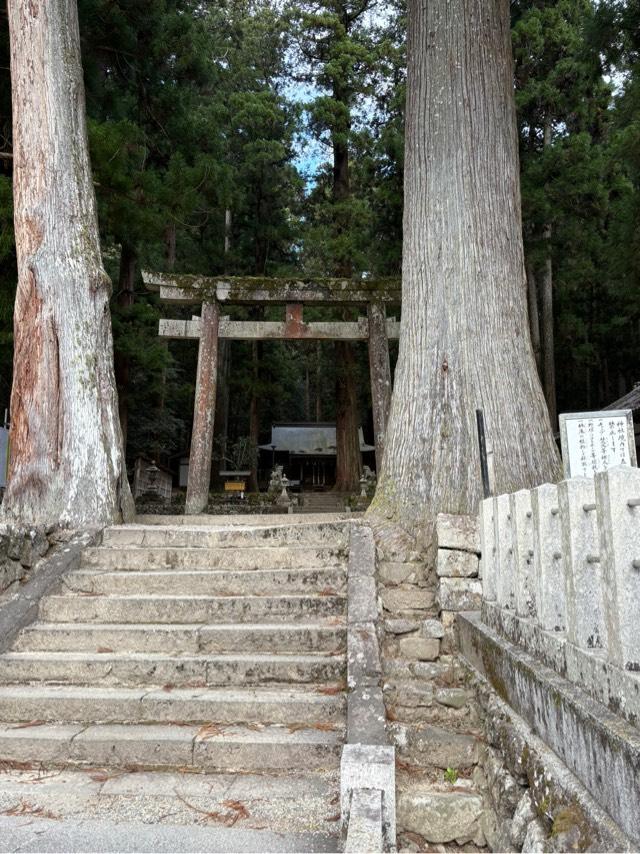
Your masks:
{"label": "pale stone balustrade of upright posts below the white sign", "polygon": [[482,619],[640,721],[640,470],[481,504]]}

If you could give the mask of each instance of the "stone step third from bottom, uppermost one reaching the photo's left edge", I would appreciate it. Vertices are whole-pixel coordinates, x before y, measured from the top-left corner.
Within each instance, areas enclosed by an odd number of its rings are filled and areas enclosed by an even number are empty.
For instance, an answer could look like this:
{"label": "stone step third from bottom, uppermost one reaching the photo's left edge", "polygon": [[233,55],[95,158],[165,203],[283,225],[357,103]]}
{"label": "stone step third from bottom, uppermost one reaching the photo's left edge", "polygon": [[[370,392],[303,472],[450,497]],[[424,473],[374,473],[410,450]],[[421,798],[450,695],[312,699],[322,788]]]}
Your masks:
{"label": "stone step third from bottom, uppermost one reaching the photo's left edge", "polygon": [[[102,686],[203,688],[267,683],[341,681],[341,655],[193,655],[154,653],[7,652],[0,655],[1,683],[50,682]],[[333,689],[327,689],[333,690]]]}

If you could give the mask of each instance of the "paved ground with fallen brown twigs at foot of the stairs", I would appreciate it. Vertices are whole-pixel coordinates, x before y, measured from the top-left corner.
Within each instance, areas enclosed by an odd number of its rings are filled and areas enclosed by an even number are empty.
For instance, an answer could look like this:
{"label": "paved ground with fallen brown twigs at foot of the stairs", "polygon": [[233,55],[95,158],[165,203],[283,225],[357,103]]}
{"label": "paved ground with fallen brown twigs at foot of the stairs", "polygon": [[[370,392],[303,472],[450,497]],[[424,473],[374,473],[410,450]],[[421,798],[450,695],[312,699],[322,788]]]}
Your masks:
{"label": "paved ground with fallen brown twigs at foot of the stairs", "polygon": [[336,788],[336,774],[8,770],[0,850],[338,851]]}

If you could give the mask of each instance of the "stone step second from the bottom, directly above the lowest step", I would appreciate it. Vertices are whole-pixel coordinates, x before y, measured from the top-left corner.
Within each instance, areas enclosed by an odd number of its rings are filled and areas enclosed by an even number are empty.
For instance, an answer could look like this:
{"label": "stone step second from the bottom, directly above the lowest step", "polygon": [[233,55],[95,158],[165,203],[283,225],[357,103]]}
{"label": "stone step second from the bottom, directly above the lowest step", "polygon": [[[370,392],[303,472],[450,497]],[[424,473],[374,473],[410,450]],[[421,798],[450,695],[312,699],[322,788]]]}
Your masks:
{"label": "stone step second from the bottom, directly above the lowest step", "polygon": [[175,689],[77,685],[0,686],[0,721],[224,723],[342,726],[344,695],[304,688]]}

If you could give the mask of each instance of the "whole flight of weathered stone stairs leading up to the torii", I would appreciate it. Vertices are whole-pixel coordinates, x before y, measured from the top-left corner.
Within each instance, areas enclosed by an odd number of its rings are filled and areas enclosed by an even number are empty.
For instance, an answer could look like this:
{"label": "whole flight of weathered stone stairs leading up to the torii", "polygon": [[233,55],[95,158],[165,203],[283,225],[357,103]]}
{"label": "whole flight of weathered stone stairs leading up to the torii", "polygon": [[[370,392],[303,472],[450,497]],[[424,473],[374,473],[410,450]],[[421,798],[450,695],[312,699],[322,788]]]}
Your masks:
{"label": "whole flight of weathered stone stairs leading up to the torii", "polygon": [[0,655],[3,767],[335,771],[340,522],[105,530]]}

